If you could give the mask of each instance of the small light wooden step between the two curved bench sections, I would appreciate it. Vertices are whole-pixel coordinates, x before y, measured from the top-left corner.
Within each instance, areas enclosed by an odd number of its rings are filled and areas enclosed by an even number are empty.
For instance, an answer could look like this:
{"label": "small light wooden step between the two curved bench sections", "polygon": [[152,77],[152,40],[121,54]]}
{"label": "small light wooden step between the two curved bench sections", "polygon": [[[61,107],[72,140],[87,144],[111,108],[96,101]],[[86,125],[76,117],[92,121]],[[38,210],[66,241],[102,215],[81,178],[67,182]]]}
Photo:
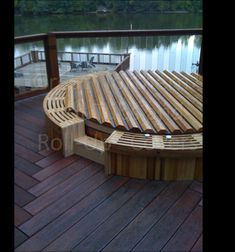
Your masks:
{"label": "small light wooden step between the two curved bench sections", "polygon": [[104,143],[98,139],[82,136],[74,139],[74,153],[104,164]]}

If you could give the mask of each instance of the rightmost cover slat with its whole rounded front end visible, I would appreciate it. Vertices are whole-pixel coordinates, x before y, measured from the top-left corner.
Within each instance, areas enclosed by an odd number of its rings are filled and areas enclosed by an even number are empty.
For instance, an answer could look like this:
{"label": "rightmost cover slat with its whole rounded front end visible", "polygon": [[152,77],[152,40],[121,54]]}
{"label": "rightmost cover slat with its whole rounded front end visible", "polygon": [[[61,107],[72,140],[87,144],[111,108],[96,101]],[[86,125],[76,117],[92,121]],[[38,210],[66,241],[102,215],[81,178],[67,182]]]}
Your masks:
{"label": "rightmost cover slat with its whole rounded front end visible", "polygon": [[134,71],[134,74],[150,91],[150,93],[154,96],[156,101],[158,101],[161,104],[166,113],[173,118],[175,123],[179,125],[179,127],[185,133],[190,133],[194,131],[192,126],[184,118],[182,118],[181,114],[178,113],[178,111],[174,108],[174,106],[172,106],[171,103],[169,103],[168,100],[166,100],[164,96],[151,85],[151,83],[145,78],[143,74],[140,74],[137,71]]}

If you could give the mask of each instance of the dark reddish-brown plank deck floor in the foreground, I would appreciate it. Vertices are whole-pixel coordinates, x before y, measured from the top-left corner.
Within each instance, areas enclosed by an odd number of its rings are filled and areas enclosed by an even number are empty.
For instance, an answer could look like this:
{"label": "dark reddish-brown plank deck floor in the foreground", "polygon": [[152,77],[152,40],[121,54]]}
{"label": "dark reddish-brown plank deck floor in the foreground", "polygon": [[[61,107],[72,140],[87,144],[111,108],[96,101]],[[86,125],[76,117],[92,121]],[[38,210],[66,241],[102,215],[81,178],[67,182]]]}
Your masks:
{"label": "dark reddish-brown plank deck floor in the foreground", "polygon": [[40,95],[15,102],[15,251],[202,251],[202,183],[104,175],[39,150]]}

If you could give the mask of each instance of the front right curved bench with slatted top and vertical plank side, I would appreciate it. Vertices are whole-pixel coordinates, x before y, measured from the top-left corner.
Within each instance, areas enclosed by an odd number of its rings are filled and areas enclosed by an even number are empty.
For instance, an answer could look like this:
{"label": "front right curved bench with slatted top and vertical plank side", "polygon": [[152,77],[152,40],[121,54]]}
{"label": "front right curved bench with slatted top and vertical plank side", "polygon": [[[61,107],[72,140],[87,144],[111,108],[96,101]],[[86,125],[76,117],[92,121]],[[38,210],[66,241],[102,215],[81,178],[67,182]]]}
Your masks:
{"label": "front right curved bench with slatted top and vertical plank side", "polygon": [[202,179],[202,134],[114,131],[105,141],[105,172],[142,179]]}

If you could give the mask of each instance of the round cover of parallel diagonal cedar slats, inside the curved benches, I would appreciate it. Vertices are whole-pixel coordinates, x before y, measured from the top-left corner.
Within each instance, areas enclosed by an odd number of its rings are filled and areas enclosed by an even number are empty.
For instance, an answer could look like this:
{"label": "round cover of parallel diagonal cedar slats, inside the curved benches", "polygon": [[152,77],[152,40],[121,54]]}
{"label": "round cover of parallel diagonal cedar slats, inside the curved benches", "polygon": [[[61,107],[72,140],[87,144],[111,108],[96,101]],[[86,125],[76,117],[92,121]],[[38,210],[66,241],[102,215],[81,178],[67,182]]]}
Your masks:
{"label": "round cover of parallel diagonal cedar slats, inside the curved benches", "polygon": [[65,98],[67,110],[93,123],[93,129],[97,124],[97,131],[178,135],[203,129],[202,77],[195,73],[90,74],[72,79]]}

